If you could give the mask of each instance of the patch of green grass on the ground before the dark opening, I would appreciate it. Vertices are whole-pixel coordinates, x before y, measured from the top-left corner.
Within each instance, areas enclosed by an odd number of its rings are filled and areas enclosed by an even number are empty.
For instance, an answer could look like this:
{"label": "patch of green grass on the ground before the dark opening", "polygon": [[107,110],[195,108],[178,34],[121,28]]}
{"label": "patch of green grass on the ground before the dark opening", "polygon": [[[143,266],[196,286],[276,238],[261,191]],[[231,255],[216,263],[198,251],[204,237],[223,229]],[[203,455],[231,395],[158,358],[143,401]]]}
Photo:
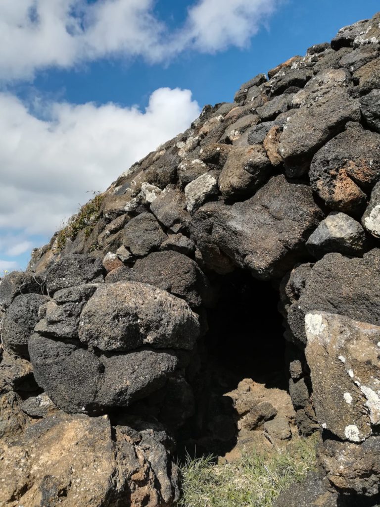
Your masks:
{"label": "patch of green grass on the ground before the dark opening", "polygon": [[318,435],[300,438],[270,456],[245,454],[226,464],[215,464],[212,456],[187,456],[179,506],[270,507],[281,491],[314,469],[317,440]]}

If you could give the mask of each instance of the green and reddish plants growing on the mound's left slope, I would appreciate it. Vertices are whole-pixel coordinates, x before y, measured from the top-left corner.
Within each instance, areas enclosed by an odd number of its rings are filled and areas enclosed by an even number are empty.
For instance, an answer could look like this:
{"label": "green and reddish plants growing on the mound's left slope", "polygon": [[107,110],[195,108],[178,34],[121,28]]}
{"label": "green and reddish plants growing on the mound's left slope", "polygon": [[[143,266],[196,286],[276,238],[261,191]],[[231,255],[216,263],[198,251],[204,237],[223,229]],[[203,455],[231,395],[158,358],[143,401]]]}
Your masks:
{"label": "green and reddish plants growing on the mound's left slope", "polygon": [[86,239],[90,236],[96,222],[100,218],[100,206],[105,195],[96,195],[91,201],[81,207],[78,214],[69,219],[66,227],[58,232],[57,251],[61,251],[66,244],[67,239],[73,241],[78,233],[85,230]]}

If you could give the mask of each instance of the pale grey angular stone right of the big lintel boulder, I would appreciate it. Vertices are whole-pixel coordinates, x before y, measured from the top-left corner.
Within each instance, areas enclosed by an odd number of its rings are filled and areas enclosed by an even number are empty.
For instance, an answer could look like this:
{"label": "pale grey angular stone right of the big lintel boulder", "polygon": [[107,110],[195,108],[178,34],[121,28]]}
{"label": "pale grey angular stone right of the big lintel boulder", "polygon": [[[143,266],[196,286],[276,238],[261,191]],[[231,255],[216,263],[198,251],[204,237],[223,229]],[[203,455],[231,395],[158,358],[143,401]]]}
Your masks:
{"label": "pale grey angular stone right of the big lintel boulder", "polygon": [[309,237],[306,246],[315,257],[328,252],[361,255],[365,234],[362,226],[345,213],[332,212],[319,224]]}

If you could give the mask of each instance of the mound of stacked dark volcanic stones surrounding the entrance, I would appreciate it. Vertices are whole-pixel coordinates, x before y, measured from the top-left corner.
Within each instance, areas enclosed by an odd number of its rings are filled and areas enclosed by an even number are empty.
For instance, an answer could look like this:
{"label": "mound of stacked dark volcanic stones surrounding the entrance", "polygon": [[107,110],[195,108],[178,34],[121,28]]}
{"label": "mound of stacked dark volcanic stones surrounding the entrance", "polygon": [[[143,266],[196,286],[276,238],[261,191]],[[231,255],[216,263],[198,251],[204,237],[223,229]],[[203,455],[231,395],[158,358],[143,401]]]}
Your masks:
{"label": "mound of stacked dark volcanic stones surrounding the entrance", "polygon": [[[193,415],[188,372],[213,301],[208,278],[237,268],[282,280],[298,427],[323,434],[323,487],[310,502],[379,494],[379,104],[376,14],[251,79],[234,102],[206,106],[107,189],[90,234],[61,250],[53,237],[26,273],[2,280],[2,446],[8,460],[29,457],[1,501],[174,504],[170,439],[151,416],[180,427]],[[44,393],[23,404],[33,382]],[[138,404],[140,426],[135,417],[111,430],[104,414]],[[69,473],[27,475],[28,449],[49,454],[70,431],[86,434],[83,452],[101,470],[93,492]]]}

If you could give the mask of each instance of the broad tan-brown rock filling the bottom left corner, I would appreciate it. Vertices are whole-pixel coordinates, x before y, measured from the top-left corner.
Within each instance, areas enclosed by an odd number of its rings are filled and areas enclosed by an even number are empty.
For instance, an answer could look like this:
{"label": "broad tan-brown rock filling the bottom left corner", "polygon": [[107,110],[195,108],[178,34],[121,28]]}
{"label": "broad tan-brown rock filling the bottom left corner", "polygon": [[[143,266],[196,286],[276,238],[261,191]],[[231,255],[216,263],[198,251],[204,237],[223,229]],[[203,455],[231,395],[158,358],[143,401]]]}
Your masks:
{"label": "broad tan-brown rock filling the bottom left corner", "polygon": [[112,430],[107,417],[42,419],[3,443],[2,458],[0,503],[10,507],[164,507],[178,497],[165,447],[126,426]]}

